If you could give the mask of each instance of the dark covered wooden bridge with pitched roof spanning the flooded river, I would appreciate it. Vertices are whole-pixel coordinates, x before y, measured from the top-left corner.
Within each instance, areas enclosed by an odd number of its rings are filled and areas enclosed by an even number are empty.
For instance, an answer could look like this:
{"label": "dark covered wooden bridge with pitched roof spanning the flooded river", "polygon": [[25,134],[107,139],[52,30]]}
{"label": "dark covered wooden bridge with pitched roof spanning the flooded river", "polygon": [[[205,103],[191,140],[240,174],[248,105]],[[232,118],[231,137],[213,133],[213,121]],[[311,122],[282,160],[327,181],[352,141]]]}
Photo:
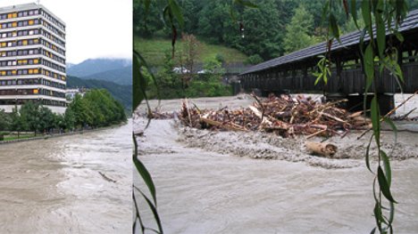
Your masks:
{"label": "dark covered wooden bridge with pitched roof spanning the flooded river", "polygon": [[[387,33],[387,41],[398,51],[398,62],[404,72],[405,83],[401,84],[404,93],[418,90],[418,10],[410,12],[398,28],[404,36],[400,43],[396,36]],[[271,61],[264,61],[239,74],[241,88],[246,92],[268,93],[324,93],[327,99],[347,98],[347,108],[362,108],[364,101],[365,75],[360,53],[361,32],[341,36],[341,43],[334,41],[331,48],[331,77],[328,84],[314,85],[319,55],[326,52],[326,43],[315,44],[303,50],[292,52]],[[370,37],[364,39],[364,46]],[[377,68],[376,68],[377,70]],[[377,74],[378,72],[376,72]],[[380,109],[387,112],[393,107],[394,93],[401,88],[388,70],[379,79],[377,90],[380,95]],[[373,87],[371,88],[371,91]]]}

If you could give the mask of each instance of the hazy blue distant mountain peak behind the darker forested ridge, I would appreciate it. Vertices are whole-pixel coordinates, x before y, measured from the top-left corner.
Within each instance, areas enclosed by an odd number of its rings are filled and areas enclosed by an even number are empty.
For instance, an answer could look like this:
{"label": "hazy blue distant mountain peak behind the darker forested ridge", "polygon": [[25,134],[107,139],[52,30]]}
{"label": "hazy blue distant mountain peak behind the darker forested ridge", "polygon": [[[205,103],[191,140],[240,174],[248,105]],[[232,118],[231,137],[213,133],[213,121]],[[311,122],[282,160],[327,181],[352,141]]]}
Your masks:
{"label": "hazy blue distant mountain peak behind the darker forested ridge", "polygon": [[83,79],[98,79],[111,81],[119,85],[132,85],[132,65],[121,69],[107,70],[82,77]]}

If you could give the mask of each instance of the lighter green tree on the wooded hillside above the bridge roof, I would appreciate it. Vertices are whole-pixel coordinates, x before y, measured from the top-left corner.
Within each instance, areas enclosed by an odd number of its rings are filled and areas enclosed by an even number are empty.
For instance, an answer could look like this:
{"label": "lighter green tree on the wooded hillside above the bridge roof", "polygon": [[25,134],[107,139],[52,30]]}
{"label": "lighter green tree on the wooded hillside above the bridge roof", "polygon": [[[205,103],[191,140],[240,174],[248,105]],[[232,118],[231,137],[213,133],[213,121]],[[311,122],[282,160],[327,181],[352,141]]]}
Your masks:
{"label": "lighter green tree on the wooded hillside above the bridge roof", "polygon": [[300,5],[286,27],[286,36],[283,42],[285,52],[295,52],[314,44],[314,37],[309,35],[313,25],[312,15],[306,12],[305,6]]}

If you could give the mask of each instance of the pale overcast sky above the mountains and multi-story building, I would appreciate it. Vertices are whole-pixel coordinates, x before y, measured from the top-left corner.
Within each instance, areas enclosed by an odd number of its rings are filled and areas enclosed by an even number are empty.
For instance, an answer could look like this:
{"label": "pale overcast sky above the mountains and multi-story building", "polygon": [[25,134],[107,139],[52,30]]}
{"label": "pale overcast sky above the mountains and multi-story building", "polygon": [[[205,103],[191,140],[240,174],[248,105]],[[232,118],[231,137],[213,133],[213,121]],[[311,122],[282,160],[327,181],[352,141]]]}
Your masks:
{"label": "pale overcast sky above the mountains and multi-story building", "polygon": [[[0,7],[36,3],[0,0]],[[66,24],[67,62],[131,58],[132,0],[40,0]]]}

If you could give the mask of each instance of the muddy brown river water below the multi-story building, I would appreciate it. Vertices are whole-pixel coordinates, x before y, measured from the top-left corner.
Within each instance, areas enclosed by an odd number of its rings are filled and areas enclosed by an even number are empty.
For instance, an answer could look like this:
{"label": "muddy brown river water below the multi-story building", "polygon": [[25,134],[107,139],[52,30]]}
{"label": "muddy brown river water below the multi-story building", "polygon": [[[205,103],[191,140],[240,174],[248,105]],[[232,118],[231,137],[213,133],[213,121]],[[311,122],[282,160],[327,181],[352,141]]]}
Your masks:
{"label": "muddy brown river water below the multi-story building", "polygon": [[129,233],[130,131],[0,145],[0,233]]}

